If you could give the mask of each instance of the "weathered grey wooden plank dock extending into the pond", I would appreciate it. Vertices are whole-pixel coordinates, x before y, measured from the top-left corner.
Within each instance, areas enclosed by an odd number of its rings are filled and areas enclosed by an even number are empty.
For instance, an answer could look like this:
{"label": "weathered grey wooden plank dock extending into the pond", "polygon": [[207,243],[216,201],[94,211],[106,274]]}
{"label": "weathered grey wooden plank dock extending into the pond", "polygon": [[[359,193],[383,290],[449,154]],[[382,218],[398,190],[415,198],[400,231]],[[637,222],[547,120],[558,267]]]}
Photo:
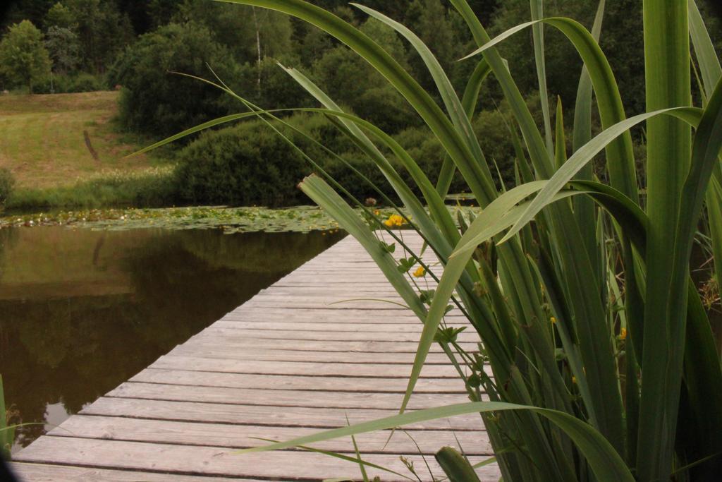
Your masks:
{"label": "weathered grey wooden plank dock extending into the pond", "polygon": [[[404,238],[420,248],[417,236]],[[264,444],[258,437],[290,439],[396,413],[422,325],[394,304],[333,304],[351,298],[400,301],[349,236],[22,449],[14,470],[24,481],[361,480],[357,464],[314,452],[234,453]],[[460,340],[474,350],[472,332]],[[435,348],[410,408],[466,401]],[[405,429],[388,444],[389,431],[357,436],[362,457],[417,480],[406,457],[432,481],[430,472],[443,478],[433,457],[443,445],[461,445],[472,462],[492,456],[478,415]],[[355,456],[350,438],[314,447]],[[482,481],[500,476],[495,464],[478,473]]]}

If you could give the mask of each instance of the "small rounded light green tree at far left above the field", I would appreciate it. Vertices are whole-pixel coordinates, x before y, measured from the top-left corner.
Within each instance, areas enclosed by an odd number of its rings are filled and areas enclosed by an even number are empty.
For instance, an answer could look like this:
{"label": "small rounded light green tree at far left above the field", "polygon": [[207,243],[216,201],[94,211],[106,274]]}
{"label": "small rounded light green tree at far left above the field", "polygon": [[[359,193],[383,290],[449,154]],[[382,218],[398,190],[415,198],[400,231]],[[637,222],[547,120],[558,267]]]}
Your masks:
{"label": "small rounded light green tree at far left above the field", "polygon": [[50,74],[50,57],[43,44],[43,33],[30,20],[12,25],[0,42],[0,73],[9,82],[32,85]]}

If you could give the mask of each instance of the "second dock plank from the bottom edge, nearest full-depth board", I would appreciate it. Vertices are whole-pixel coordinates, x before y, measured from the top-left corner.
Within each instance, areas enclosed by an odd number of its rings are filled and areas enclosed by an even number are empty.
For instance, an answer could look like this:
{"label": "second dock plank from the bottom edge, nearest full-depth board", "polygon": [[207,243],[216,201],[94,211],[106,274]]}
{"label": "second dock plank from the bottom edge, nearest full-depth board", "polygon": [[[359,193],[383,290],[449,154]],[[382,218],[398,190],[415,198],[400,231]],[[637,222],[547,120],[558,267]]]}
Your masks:
{"label": "second dock plank from the bottom edge, nearest full-depth board", "polygon": [[[396,455],[371,454],[365,459],[404,475],[409,474]],[[196,447],[172,444],[147,444],[116,440],[79,439],[73,437],[44,436],[30,447],[19,452],[19,462],[61,462],[85,467],[144,470],[178,475],[217,475],[222,477],[270,478],[279,480],[319,480],[321,478],[359,478],[358,465],[334,457],[297,451],[261,452],[238,455],[222,447]],[[409,455],[417,468],[424,467],[421,457]],[[478,462],[479,457],[471,457]],[[428,460],[435,470],[441,472],[435,461]],[[484,480],[494,480],[497,470],[485,466],[479,470]],[[384,481],[406,480],[399,475],[369,468],[371,477],[383,477]],[[292,474],[292,475],[289,475]]]}

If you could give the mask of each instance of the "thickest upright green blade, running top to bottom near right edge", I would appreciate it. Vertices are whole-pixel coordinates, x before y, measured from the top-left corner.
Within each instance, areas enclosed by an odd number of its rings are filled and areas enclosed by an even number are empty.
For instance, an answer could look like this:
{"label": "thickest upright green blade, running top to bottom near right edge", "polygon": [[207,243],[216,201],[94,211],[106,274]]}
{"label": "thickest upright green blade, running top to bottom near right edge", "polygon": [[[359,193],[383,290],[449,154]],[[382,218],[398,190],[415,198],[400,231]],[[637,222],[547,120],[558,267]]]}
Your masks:
{"label": "thickest upright green blade, running top to bottom near right edge", "polygon": [[[690,105],[687,0],[644,1],[647,111]],[[682,383],[687,270],[675,272],[679,200],[690,169],[692,135],[679,119],[647,122],[647,291],[637,470],[641,480],[668,480]],[[687,259],[688,261],[688,259]],[[679,289],[681,288],[681,290]]]}

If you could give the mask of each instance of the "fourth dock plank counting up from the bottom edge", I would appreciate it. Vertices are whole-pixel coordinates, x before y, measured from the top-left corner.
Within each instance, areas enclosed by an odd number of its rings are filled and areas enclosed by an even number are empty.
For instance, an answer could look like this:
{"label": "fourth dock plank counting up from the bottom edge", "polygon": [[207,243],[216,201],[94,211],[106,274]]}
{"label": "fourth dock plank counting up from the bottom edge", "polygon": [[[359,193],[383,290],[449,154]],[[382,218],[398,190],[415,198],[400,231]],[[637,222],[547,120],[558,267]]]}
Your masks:
{"label": "fourth dock plank counting up from the bottom edge", "polygon": [[[336,429],[349,423],[375,420],[399,413],[398,410],[370,408],[278,407],[270,405],[229,405],[225,403],[173,402],[135,398],[100,397],[83,408],[84,415],[149,418],[153,420],[238,423],[239,425],[310,427]],[[478,415],[466,415],[410,424],[413,430],[479,430]],[[22,451],[21,451],[22,452]]]}

